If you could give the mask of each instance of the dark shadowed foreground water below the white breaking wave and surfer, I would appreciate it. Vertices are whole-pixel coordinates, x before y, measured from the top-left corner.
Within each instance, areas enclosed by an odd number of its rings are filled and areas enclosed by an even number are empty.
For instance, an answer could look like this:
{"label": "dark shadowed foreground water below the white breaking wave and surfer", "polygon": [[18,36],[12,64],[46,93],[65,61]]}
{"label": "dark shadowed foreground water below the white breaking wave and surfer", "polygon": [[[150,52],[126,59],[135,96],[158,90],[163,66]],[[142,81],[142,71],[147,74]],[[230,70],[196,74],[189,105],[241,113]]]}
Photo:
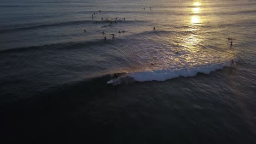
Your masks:
{"label": "dark shadowed foreground water below the white breaking wave and surfer", "polygon": [[[233,73],[224,68],[211,75],[219,72]],[[223,103],[232,95],[223,89],[219,90],[223,91],[220,95],[213,91],[219,88],[219,80],[211,75],[200,73],[195,77],[117,86],[107,85],[112,75],[106,75],[63,85],[28,100],[2,105],[4,140],[5,143],[242,143],[245,139],[253,142],[252,132],[237,114],[239,109],[232,107],[232,103]],[[211,87],[204,79],[212,83]]]}

